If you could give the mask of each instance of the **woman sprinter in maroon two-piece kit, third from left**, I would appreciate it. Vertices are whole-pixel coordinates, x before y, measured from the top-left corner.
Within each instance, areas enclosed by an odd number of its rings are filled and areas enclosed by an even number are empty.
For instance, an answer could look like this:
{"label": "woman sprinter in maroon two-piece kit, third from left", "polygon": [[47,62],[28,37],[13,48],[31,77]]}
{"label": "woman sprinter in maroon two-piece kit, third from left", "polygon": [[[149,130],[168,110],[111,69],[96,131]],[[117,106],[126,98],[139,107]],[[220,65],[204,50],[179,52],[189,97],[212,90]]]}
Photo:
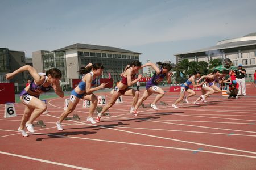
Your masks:
{"label": "woman sprinter in maroon two-piece kit, third from left", "polygon": [[118,85],[114,88],[114,92],[111,96],[111,99],[108,104],[106,104],[103,108],[101,113],[98,113],[97,122],[100,122],[101,115],[105,113],[110,107],[112,107],[115,104],[115,101],[120,97],[121,95],[125,96],[133,96],[133,102],[131,103],[131,110],[132,113],[135,107],[135,104],[138,101],[139,97],[139,91],[129,88],[129,86],[132,86],[134,83],[136,83],[139,79],[141,79],[141,74],[138,75],[138,78],[135,79],[135,75],[138,73],[139,69],[142,67],[145,67],[146,65],[141,66],[141,63],[139,61],[134,61],[131,63],[131,65],[128,65],[124,71],[122,76],[121,82],[118,83]]}

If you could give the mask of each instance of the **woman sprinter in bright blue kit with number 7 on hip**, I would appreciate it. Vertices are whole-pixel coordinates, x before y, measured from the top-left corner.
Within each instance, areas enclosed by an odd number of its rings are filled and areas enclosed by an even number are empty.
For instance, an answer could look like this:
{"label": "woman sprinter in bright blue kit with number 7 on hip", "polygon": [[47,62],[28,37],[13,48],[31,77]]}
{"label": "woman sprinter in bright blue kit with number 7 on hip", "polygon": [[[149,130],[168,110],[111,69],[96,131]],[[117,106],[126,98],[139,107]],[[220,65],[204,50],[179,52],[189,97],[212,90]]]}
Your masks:
{"label": "woman sprinter in bright blue kit with number 7 on hip", "polygon": [[105,88],[105,83],[102,83],[98,87],[92,87],[92,84],[96,84],[96,76],[100,76],[103,71],[103,66],[101,63],[96,63],[92,65],[92,63],[89,63],[86,67],[82,67],[81,70],[79,70],[79,73],[82,74],[82,80],[78,84],[76,88],[74,88],[71,91],[70,100],[68,104],[68,108],[66,111],[64,111],[60,119],[56,122],[57,129],[63,130],[61,126],[61,122],[63,122],[64,118],[68,116],[68,114],[72,113],[74,109],[76,108],[76,105],[79,103],[80,99],[90,100],[91,105],[89,109],[89,116],[87,118],[87,121],[91,124],[96,124],[96,121],[93,120],[92,115],[95,111],[98,103],[97,97],[93,94],[94,91],[100,90],[102,88]]}

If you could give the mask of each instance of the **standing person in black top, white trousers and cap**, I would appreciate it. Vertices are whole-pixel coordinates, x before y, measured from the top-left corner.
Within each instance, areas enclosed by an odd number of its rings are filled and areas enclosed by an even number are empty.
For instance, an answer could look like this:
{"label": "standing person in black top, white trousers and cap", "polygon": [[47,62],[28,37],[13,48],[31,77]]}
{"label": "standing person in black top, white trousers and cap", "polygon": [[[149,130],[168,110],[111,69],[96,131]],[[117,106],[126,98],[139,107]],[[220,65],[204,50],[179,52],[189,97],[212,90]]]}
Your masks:
{"label": "standing person in black top, white trousers and cap", "polygon": [[236,70],[236,82],[239,84],[238,96],[246,96],[245,73],[246,70],[243,69],[243,65],[238,65],[238,70]]}

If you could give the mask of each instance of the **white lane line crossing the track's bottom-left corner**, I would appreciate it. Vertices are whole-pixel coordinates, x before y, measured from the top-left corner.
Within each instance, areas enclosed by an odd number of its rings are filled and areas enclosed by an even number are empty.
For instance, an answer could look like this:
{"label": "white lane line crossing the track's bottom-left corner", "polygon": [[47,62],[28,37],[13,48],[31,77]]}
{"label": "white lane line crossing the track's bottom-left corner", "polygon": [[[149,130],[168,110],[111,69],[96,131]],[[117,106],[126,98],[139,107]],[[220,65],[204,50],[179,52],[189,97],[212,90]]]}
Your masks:
{"label": "white lane line crossing the track's bottom-left corner", "polygon": [[24,158],[24,159],[31,159],[31,160],[36,160],[36,161],[39,161],[39,162],[44,162],[44,163],[49,163],[49,164],[55,164],[55,165],[60,165],[60,166],[63,166],[63,167],[68,167],[68,168],[75,168],[75,169],[88,169],[88,168],[84,168],[84,167],[77,167],[75,165],[69,165],[69,164],[63,164],[63,163],[59,163],[59,162],[53,162],[51,160],[44,160],[44,159],[39,159],[39,158],[32,158],[30,156],[24,156],[24,155],[18,155],[18,154],[11,154],[9,152],[2,152],[0,151],[0,154],[5,154],[5,155],[10,155],[10,156],[16,156],[16,157],[19,157],[19,158]]}

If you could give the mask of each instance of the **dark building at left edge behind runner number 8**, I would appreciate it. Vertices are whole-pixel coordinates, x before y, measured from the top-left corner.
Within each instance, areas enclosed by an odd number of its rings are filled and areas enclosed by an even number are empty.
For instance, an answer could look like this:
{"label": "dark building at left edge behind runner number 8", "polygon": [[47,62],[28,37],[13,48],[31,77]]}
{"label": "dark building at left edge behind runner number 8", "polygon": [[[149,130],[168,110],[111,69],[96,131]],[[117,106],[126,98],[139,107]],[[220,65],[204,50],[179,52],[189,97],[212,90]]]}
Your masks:
{"label": "dark building at left edge behind runner number 8", "polygon": [[[0,48],[0,82],[9,82],[5,78],[6,73],[10,73],[26,65],[25,53],[22,51],[9,50],[8,48]],[[28,73],[19,73],[14,76],[10,82],[14,82],[15,91],[24,88],[27,82]]]}

